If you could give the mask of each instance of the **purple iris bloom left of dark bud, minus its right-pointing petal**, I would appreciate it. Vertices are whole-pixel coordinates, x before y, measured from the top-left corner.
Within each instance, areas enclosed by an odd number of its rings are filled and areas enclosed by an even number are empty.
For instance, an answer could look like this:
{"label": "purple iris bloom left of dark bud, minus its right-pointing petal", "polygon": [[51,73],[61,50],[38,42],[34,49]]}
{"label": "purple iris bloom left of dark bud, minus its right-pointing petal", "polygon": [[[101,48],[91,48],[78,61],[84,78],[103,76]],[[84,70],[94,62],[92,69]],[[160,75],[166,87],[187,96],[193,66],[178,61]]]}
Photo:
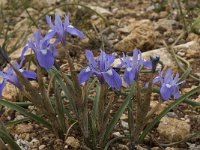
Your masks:
{"label": "purple iris bloom left of dark bud, minus its right-pointing petal", "polygon": [[121,59],[121,66],[125,66],[124,71],[124,81],[131,85],[133,80],[137,79],[138,71],[140,66],[143,64],[142,53],[138,49],[133,50],[133,58],[125,56],[123,54],[123,59]]}

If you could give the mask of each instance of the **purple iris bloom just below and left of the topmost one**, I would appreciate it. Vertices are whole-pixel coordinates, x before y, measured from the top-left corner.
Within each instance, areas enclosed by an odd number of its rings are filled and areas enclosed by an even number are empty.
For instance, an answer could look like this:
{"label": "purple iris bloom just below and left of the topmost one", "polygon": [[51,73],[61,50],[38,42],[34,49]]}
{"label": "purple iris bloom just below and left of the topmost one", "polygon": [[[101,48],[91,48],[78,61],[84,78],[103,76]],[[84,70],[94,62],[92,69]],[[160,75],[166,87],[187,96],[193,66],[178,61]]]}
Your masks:
{"label": "purple iris bloom just below and left of the topmost one", "polygon": [[55,61],[54,57],[58,54],[55,44],[50,43],[50,39],[53,36],[53,33],[46,34],[45,37],[41,39],[42,36],[40,30],[36,31],[31,40],[28,40],[28,43],[24,47],[21,59],[24,59],[25,52],[28,48],[31,48],[37,57],[39,65],[47,70],[51,69]]}

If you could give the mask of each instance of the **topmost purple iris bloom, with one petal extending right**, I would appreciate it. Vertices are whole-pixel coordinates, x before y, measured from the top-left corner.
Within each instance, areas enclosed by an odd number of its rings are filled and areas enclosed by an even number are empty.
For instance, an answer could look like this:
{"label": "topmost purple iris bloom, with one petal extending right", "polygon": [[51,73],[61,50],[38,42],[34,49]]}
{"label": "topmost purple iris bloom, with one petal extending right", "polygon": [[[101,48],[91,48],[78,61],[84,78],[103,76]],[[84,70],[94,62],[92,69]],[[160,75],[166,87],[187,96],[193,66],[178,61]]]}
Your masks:
{"label": "topmost purple iris bloom, with one petal extending right", "polygon": [[83,32],[76,29],[74,26],[69,24],[69,16],[65,15],[65,21],[62,23],[62,20],[60,19],[60,16],[58,14],[55,14],[55,20],[54,25],[51,21],[51,17],[46,16],[47,23],[49,24],[51,30],[49,30],[49,33],[57,34],[58,41],[61,41],[61,43],[65,46],[66,45],[66,34],[67,32],[79,36],[80,38],[84,37]]}

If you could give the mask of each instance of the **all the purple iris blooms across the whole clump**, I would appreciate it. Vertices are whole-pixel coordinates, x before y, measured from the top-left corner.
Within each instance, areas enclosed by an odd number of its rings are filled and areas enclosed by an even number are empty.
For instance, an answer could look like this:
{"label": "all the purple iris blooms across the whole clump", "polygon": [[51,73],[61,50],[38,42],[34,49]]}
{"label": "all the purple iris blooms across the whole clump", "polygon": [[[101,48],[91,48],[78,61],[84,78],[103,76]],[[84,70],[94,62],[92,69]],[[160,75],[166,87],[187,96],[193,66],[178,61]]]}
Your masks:
{"label": "all the purple iris blooms across the whole clump", "polygon": [[[84,37],[84,34],[76,29],[74,26],[69,24],[69,17],[65,16],[64,23],[62,22],[58,14],[55,15],[54,24],[51,21],[51,17],[46,16],[50,30],[42,38],[40,30],[36,31],[33,36],[28,40],[26,46],[24,47],[21,54],[20,64],[15,64],[15,67],[26,77],[31,79],[36,79],[36,73],[29,70],[23,70],[22,64],[24,61],[24,54],[30,48],[34,51],[38,64],[44,69],[51,69],[55,62],[55,57],[58,54],[56,45],[61,43],[63,46],[66,45],[66,35],[70,33],[76,35],[80,38]],[[51,42],[51,39],[56,37],[55,42]],[[90,50],[86,50],[86,58],[88,59],[88,66],[83,69],[79,76],[80,84],[87,81],[93,74],[97,76],[101,83],[106,82],[112,88],[120,89],[122,85],[121,76],[112,67],[115,59],[114,54],[106,54],[101,51],[100,56],[95,60],[93,53]],[[141,66],[146,66],[152,68],[151,60],[144,60],[142,58],[141,52],[138,49],[133,50],[133,57],[130,58],[128,55],[123,54],[120,58],[121,64],[118,66],[120,69],[122,66],[125,67],[124,81],[131,85],[133,80],[137,80],[138,72]],[[168,69],[163,77],[163,72],[159,72],[159,76],[153,80],[153,83],[159,82],[161,84],[160,93],[163,100],[169,99],[173,96],[177,99],[180,96],[179,92],[179,80],[178,73],[173,77],[171,69]],[[20,88],[21,85],[11,67],[8,67],[6,72],[0,71],[0,95],[6,84],[6,81],[14,84],[16,87]]]}

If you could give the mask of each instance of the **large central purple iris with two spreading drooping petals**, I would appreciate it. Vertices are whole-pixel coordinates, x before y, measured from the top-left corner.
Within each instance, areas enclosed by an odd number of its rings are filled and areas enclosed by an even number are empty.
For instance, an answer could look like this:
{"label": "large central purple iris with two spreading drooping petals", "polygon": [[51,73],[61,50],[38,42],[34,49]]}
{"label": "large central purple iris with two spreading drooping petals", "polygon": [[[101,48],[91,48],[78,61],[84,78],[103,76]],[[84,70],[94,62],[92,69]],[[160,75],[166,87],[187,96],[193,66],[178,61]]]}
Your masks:
{"label": "large central purple iris with two spreading drooping petals", "polygon": [[122,85],[120,75],[111,67],[114,62],[114,54],[106,54],[101,51],[97,60],[94,59],[94,55],[90,50],[86,50],[86,57],[88,60],[88,66],[83,69],[78,76],[80,84],[88,80],[93,74],[96,74],[99,81],[108,83],[112,88],[119,89]]}

